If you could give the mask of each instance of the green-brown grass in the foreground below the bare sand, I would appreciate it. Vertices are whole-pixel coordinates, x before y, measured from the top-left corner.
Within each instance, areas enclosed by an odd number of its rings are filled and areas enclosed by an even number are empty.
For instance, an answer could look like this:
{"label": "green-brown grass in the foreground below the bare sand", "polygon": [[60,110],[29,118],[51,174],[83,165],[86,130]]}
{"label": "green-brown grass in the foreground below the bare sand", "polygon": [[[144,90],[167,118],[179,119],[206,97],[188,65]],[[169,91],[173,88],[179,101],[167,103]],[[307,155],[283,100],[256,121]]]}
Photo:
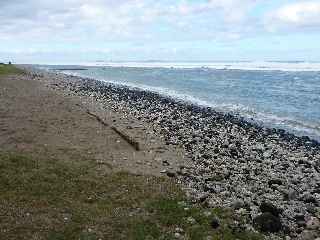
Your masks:
{"label": "green-brown grass in the foreground below the bare sand", "polygon": [[232,212],[189,204],[166,178],[95,168],[0,153],[0,239],[262,239],[232,228]]}

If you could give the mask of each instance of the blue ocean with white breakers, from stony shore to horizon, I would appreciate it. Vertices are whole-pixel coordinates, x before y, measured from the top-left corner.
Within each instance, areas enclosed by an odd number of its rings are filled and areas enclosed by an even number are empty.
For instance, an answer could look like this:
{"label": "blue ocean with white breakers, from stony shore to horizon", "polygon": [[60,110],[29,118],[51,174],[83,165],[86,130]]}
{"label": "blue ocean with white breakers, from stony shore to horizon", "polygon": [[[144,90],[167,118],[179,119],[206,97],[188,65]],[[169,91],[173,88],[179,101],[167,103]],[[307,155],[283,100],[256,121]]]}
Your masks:
{"label": "blue ocean with white breakers, from stony shore to horizon", "polygon": [[37,67],[157,92],[320,140],[320,63],[95,62]]}

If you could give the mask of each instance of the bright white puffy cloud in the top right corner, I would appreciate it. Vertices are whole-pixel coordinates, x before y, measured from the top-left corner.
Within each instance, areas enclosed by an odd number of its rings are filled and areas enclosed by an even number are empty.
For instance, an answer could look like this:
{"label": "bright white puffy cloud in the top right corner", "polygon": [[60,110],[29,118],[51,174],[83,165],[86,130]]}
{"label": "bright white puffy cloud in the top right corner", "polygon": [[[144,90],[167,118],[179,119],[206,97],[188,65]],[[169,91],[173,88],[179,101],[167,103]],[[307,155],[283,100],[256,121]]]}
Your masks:
{"label": "bright white puffy cloud in the top right corner", "polygon": [[271,31],[291,28],[320,28],[320,2],[301,1],[284,5],[267,15],[266,24]]}

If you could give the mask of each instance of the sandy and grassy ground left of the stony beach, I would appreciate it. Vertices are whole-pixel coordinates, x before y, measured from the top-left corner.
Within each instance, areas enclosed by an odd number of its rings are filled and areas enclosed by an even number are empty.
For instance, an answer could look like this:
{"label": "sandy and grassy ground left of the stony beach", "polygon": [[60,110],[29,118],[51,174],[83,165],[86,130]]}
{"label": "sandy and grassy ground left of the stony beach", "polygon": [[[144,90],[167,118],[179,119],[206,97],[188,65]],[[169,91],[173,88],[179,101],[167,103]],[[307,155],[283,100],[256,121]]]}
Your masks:
{"label": "sandy and grassy ground left of the stony beach", "polygon": [[239,219],[233,213],[192,204],[175,178],[161,173],[185,164],[161,139],[150,133],[147,148],[137,149],[122,136],[142,137],[145,124],[111,110],[103,115],[90,97],[53,89],[54,78],[5,69],[0,239],[263,239],[231,232],[229,223]]}

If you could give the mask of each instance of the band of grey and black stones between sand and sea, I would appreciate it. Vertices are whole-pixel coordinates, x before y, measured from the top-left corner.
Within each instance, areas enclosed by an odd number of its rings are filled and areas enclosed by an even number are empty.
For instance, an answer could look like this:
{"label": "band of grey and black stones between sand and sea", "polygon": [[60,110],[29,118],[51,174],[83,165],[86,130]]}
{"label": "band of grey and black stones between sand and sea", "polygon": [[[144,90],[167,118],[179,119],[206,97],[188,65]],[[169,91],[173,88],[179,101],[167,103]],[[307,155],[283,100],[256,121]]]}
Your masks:
{"label": "band of grey and black stones between sand and sea", "polygon": [[94,99],[150,127],[167,146],[184,149],[191,164],[172,169],[171,160],[163,159],[160,174],[176,178],[194,203],[235,210],[246,219],[236,227],[270,238],[320,236],[319,142],[153,92],[29,71],[51,88]]}

